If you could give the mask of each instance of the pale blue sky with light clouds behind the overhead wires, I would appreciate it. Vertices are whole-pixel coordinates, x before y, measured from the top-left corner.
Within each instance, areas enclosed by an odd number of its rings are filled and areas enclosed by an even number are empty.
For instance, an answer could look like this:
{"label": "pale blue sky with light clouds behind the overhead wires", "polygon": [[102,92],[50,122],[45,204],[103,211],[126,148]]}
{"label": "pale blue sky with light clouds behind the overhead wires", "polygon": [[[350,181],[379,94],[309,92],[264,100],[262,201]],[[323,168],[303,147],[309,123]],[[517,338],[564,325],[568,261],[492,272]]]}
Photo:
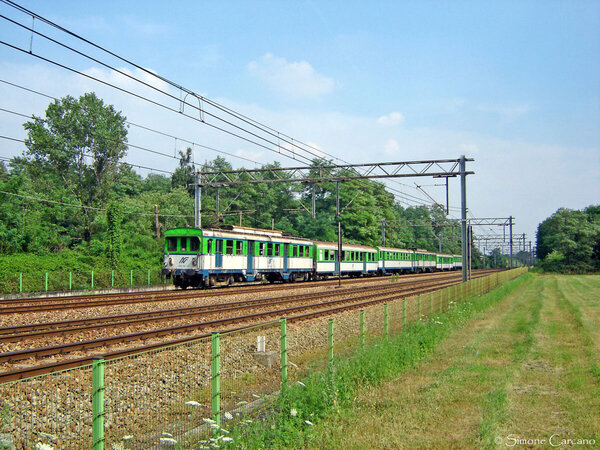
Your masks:
{"label": "pale blue sky with light clouds behind the overhead wires", "polygon": [[[581,208],[600,199],[600,2],[20,4],[351,162],[474,157],[472,214],[512,214],[529,239],[558,207]],[[49,31],[40,24],[36,29]],[[29,47],[29,34],[4,21],[0,37]],[[33,46],[102,73],[37,37]],[[56,96],[93,89],[134,122],[259,162],[277,159],[5,46],[0,78]],[[47,104],[6,86],[0,86],[0,98],[0,107],[26,114],[41,114]],[[2,114],[0,132],[23,137],[21,123]],[[134,139],[177,145],[143,134],[131,134]],[[19,153],[3,144],[0,152]],[[135,152],[129,160],[176,164]],[[405,184],[402,189],[418,195],[412,180]],[[443,199],[438,187],[430,193]],[[451,202],[458,206],[458,196]]]}

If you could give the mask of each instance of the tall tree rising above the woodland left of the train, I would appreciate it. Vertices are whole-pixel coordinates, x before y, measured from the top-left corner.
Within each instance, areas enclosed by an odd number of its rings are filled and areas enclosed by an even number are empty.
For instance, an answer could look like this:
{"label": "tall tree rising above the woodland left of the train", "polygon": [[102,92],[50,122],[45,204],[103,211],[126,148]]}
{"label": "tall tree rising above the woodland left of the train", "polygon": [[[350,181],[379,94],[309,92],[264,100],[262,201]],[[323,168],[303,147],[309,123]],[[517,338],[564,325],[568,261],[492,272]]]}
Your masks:
{"label": "tall tree rising above the woodland left of the train", "polygon": [[127,149],[125,117],[87,93],[55,100],[46,118],[34,116],[27,130],[25,157],[32,170],[52,174],[79,204],[82,238],[89,242],[97,209],[110,197],[119,160]]}

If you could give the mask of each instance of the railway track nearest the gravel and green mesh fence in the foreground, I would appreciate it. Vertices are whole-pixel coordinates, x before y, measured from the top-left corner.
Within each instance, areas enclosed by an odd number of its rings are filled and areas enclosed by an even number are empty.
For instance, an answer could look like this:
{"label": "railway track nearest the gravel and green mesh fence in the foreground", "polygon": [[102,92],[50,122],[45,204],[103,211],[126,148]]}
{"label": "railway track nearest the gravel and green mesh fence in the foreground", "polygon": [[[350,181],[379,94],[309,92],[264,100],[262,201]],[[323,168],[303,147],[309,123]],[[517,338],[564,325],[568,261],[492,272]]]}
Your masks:
{"label": "railway track nearest the gravel and green mesh fence in the foreground", "polygon": [[[477,277],[479,276],[483,276],[484,274],[477,274]],[[174,326],[174,327],[166,327],[166,328],[159,328],[159,329],[154,329],[154,330],[148,330],[148,331],[142,331],[142,332],[138,332],[138,333],[128,333],[128,334],[122,334],[122,335],[117,335],[117,336],[110,336],[107,338],[99,338],[99,339],[90,339],[90,340],[85,340],[85,341],[79,341],[79,342],[71,342],[71,343],[63,343],[61,345],[53,345],[53,346],[47,346],[47,347],[40,347],[40,348],[33,348],[33,349],[25,349],[25,350],[18,350],[18,351],[13,351],[13,352],[6,352],[6,353],[2,353],[0,354],[0,363],[2,363],[4,366],[10,365],[10,364],[14,364],[16,362],[20,362],[23,360],[28,360],[28,361],[33,361],[33,360],[38,360],[41,358],[46,358],[46,357],[56,357],[56,356],[63,356],[65,354],[69,354],[69,353],[73,353],[73,352],[88,352],[90,350],[93,349],[97,349],[99,347],[102,348],[107,348],[111,345],[115,345],[115,344],[129,344],[131,342],[134,341],[148,341],[148,340],[152,340],[152,339],[159,339],[159,338],[164,338],[165,336],[173,336],[173,335],[186,335],[186,334],[190,334],[193,333],[192,336],[186,336],[184,338],[180,338],[177,340],[170,340],[168,342],[160,342],[160,343],[152,343],[150,345],[138,345],[134,348],[128,349],[128,350],[121,350],[121,351],[117,351],[117,352],[112,352],[112,353],[107,353],[106,351],[103,352],[103,355],[106,358],[110,358],[110,357],[118,357],[118,356],[123,356],[124,354],[132,354],[132,353],[138,353],[138,352],[142,352],[142,351],[146,351],[152,348],[157,348],[157,347],[162,347],[165,345],[172,345],[174,343],[178,343],[178,342],[185,342],[185,341],[189,341],[189,340],[193,340],[193,339],[198,339],[199,337],[202,337],[203,335],[198,335],[197,333],[203,332],[205,330],[219,330],[219,331],[223,331],[225,329],[231,329],[231,328],[243,328],[244,326],[247,326],[249,323],[268,323],[270,320],[272,320],[273,318],[279,318],[282,316],[287,316],[288,320],[290,322],[295,322],[295,321],[300,321],[300,320],[307,320],[310,318],[314,318],[314,317],[320,317],[320,316],[325,316],[325,315],[331,315],[331,314],[335,314],[335,313],[339,313],[341,311],[345,311],[345,310],[349,310],[349,309],[358,309],[358,308],[362,308],[362,307],[366,307],[366,306],[371,306],[377,303],[384,303],[384,302],[388,302],[388,301],[392,301],[398,298],[402,298],[402,297],[406,297],[406,296],[410,296],[410,295],[416,295],[416,294],[423,294],[423,293],[427,293],[433,290],[437,290],[449,285],[453,285],[453,284],[457,284],[458,281],[460,281],[459,276],[457,275],[450,275],[444,278],[441,277],[437,277],[438,279],[435,280],[431,280],[431,279],[427,279],[427,280],[420,280],[418,284],[418,286],[412,285],[412,286],[407,286],[407,285],[399,285],[399,284],[393,284],[391,286],[387,286],[386,289],[380,288],[377,290],[377,292],[373,292],[373,288],[370,287],[369,288],[347,288],[346,290],[340,290],[340,291],[335,291],[332,293],[328,293],[326,296],[324,295],[324,293],[317,293],[317,294],[309,294],[307,295],[298,295],[295,297],[298,297],[296,299],[291,298],[290,296],[286,296],[286,297],[275,297],[275,298],[270,298],[270,299],[262,299],[263,301],[263,307],[264,306],[272,306],[272,305],[284,305],[285,303],[293,303],[294,301],[300,301],[301,297],[304,297],[304,299],[306,300],[307,298],[317,298],[319,297],[321,300],[324,297],[327,298],[331,298],[331,297],[342,297],[342,298],[338,298],[338,299],[334,299],[334,300],[329,300],[326,302],[318,302],[318,303],[310,303],[310,304],[303,304],[303,305],[297,305],[297,306],[287,306],[285,308],[277,308],[277,309],[272,309],[272,310],[268,310],[268,311],[261,311],[261,312],[254,312],[254,313],[250,313],[250,314],[242,314],[242,315],[236,315],[236,316],[231,316],[231,317],[226,317],[226,318],[219,318],[219,319],[215,319],[215,320],[210,320],[210,321],[203,321],[203,322],[196,322],[196,323],[191,323],[191,324],[185,324],[185,325],[179,325],[179,326]],[[393,292],[390,292],[390,290],[392,290]],[[362,291],[362,292],[361,292]],[[354,294],[354,295],[352,295]],[[361,295],[363,294],[363,295]],[[238,311],[243,311],[243,310],[248,310],[251,308],[256,308],[256,305],[252,305],[252,303],[255,303],[256,301],[242,301],[242,302],[231,302],[229,304],[223,304],[223,305],[209,305],[209,307],[212,307],[212,311],[211,312],[220,312],[220,313],[224,313],[224,312],[232,312],[235,310]],[[271,302],[269,304],[269,302]],[[235,305],[234,305],[235,304]],[[221,309],[219,310],[219,307],[221,307]],[[308,310],[308,312],[306,312]],[[206,313],[207,311],[205,311],[204,313]],[[199,313],[201,314],[201,313]],[[123,316],[129,316],[129,315],[123,315]],[[92,321],[93,319],[85,319],[87,322]],[[125,320],[125,322],[123,322],[123,325],[126,325],[127,319],[123,319]],[[152,320],[152,319],[142,319],[142,320]],[[69,326],[66,322],[63,322],[63,324],[65,326]],[[48,324],[41,324],[41,325],[48,325]],[[90,325],[83,325],[83,326],[90,326]],[[93,326],[93,325],[91,325]],[[14,327],[16,328],[16,327]],[[73,328],[71,326],[71,328]],[[23,327],[20,329],[20,332],[16,332],[16,334],[13,332],[12,336],[10,335],[10,333],[8,332],[8,329],[4,329],[6,331],[6,333],[2,336],[3,339],[5,338],[17,338],[17,339],[22,339],[23,338],[23,333],[25,331],[26,327]],[[76,330],[69,330],[69,331],[73,331],[76,332]],[[31,329],[29,329],[27,331],[28,333],[32,334],[32,333],[44,333],[43,331],[31,331]],[[57,333],[63,333],[65,332],[65,330],[52,330],[51,332],[57,332]],[[20,334],[20,336],[19,336]],[[4,373],[0,373],[0,382],[3,381],[9,381],[9,380],[14,380],[14,379],[18,379],[18,378],[23,378],[23,377],[28,377],[28,376],[32,376],[35,374],[39,374],[39,373],[48,373],[54,370],[62,370],[64,368],[68,368],[68,367],[76,367],[77,365],[82,365],[85,364],[85,361],[90,361],[89,356],[84,357],[84,358],[75,358],[72,360],[66,360],[66,361],[60,361],[60,362],[54,362],[51,364],[45,364],[45,365],[36,365],[34,367],[28,367],[28,368],[22,368],[19,370],[8,370]],[[10,369],[10,367],[9,367]]]}

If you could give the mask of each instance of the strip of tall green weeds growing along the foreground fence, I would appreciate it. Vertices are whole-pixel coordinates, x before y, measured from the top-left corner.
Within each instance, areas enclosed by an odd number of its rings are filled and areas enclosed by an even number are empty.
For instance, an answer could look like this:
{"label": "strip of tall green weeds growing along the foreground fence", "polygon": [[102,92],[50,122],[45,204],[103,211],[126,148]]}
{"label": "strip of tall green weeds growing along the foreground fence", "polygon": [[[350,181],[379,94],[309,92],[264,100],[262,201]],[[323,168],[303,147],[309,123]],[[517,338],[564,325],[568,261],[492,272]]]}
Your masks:
{"label": "strip of tall green weeds growing along the foreground fence", "polygon": [[[416,366],[450,333],[530,278],[530,274],[525,274],[484,296],[433,315],[428,321],[417,322],[389,339],[377,340],[351,357],[335,359],[329,370],[313,373],[302,384],[290,386],[254,422],[232,429],[230,445],[236,448],[328,446],[331,443],[326,442],[323,433],[315,432],[313,424],[336,414],[351,414],[360,392],[380,386]],[[506,394],[497,394],[499,398],[490,397],[490,407],[504,402]]]}

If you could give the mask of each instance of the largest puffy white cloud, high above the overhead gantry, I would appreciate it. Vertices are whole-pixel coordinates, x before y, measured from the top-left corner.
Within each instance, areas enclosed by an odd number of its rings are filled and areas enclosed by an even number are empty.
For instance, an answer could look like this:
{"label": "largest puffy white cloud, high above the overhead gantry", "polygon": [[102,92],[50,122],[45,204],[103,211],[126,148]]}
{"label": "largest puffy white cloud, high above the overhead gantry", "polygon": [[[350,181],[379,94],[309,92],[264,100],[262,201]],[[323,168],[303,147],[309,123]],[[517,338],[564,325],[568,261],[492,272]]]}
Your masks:
{"label": "largest puffy white cloud, high above the overhead gantry", "polygon": [[289,99],[318,99],[335,88],[335,81],[318,73],[308,62],[288,62],[267,53],[248,64],[250,74],[269,89]]}

